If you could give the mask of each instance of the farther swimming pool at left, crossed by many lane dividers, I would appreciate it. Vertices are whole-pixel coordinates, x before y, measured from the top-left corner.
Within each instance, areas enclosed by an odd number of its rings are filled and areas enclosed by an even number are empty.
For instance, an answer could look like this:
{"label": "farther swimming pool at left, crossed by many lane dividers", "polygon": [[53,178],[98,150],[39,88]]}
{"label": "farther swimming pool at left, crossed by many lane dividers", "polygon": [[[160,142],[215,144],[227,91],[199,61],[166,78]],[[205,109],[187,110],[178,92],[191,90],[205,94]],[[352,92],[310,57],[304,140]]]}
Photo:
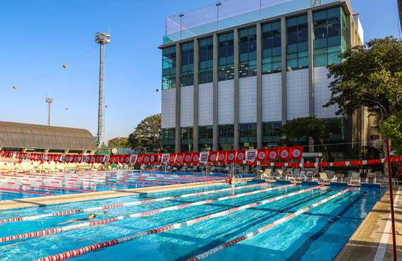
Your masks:
{"label": "farther swimming pool at left, crossed by many lane dividers", "polygon": [[[253,175],[243,175],[253,176]],[[227,177],[211,174],[209,181]],[[178,185],[201,181],[193,173],[169,173],[163,171],[105,171],[56,174],[1,174],[0,200],[36,198],[49,195],[68,195],[150,186]]]}

